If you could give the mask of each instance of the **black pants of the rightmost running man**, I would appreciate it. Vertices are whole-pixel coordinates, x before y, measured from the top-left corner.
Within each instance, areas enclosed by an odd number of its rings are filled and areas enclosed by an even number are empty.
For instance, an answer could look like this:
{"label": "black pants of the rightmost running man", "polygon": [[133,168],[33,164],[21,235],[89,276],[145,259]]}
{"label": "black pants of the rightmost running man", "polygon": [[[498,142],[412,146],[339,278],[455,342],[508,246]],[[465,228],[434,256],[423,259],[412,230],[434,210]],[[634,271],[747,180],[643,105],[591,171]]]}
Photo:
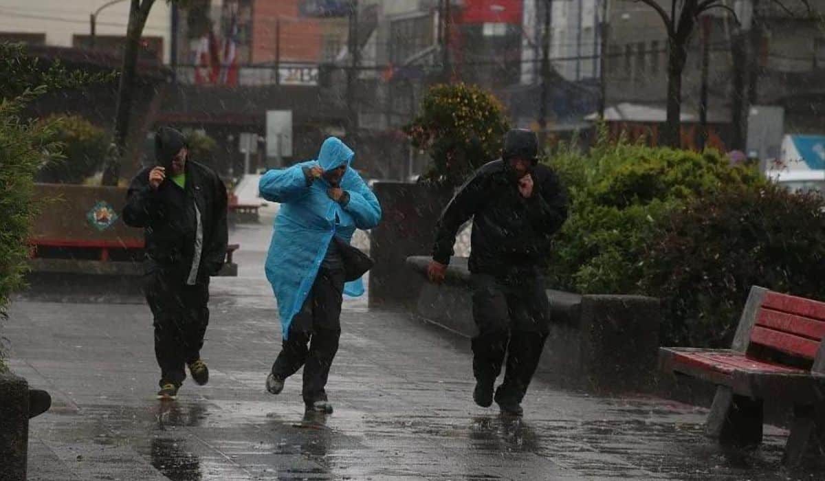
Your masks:
{"label": "black pants of the rightmost running man", "polygon": [[549,301],[541,276],[473,275],[473,373],[493,384],[507,354],[498,403],[521,403],[539,365],[549,329]]}

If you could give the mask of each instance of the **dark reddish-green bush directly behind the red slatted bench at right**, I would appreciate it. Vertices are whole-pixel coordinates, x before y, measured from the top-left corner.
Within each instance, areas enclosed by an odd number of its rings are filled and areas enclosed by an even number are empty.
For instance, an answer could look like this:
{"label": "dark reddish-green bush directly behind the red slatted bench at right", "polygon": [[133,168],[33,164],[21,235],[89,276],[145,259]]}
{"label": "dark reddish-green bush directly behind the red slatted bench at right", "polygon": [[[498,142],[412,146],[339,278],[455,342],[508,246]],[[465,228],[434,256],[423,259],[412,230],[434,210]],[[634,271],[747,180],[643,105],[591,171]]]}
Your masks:
{"label": "dark reddish-green bush directly behind the red slatted bench at right", "polygon": [[825,299],[825,200],[732,186],[672,213],[650,239],[644,290],[665,299],[662,342],[728,347],[752,285]]}

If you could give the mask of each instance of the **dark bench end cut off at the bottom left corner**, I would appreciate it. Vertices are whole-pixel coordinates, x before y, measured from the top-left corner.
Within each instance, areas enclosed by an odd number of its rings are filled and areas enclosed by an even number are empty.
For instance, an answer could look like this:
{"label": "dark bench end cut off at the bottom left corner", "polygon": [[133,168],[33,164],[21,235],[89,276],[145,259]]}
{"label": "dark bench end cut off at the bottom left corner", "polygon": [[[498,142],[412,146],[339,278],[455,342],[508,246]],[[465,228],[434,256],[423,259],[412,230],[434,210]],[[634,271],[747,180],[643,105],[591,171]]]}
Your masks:
{"label": "dark bench end cut off at the bottom left corner", "polygon": [[51,407],[49,393],[29,389],[21,377],[0,374],[0,479],[25,481],[29,419]]}

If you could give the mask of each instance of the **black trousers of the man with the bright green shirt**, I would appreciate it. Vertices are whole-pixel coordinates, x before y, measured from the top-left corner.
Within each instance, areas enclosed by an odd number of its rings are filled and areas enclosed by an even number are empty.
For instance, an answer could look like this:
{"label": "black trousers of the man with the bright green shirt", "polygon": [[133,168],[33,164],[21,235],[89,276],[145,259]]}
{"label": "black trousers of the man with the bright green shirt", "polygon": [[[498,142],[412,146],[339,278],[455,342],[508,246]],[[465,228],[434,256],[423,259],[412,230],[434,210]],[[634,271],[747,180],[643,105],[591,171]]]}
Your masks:
{"label": "black trousers of the man with the bright green shirt", "polygon": [[154,271],[144,279],[144,293],[154,317],[155,358],[165,383],[181,385],[185,366],[200,359],[209,324],[209,280],[186,285],[180,275]]}

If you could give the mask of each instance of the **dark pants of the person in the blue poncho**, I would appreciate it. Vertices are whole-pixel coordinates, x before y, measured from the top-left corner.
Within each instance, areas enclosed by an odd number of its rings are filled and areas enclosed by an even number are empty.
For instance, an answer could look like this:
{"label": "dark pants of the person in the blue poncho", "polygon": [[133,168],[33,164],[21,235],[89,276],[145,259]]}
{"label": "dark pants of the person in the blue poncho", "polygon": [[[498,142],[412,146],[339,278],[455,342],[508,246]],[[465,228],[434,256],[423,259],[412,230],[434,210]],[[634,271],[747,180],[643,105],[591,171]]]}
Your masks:
{"label": "dark pants of the person in the blue poncho", "polygon": [[292,319],[289,336],[272,365],[272,374],[282,380],[304,366],[302,394],[307,405],[327,400],[324,387],[341,337],[343,290],[344,271],[318,271],[312,291]]}

